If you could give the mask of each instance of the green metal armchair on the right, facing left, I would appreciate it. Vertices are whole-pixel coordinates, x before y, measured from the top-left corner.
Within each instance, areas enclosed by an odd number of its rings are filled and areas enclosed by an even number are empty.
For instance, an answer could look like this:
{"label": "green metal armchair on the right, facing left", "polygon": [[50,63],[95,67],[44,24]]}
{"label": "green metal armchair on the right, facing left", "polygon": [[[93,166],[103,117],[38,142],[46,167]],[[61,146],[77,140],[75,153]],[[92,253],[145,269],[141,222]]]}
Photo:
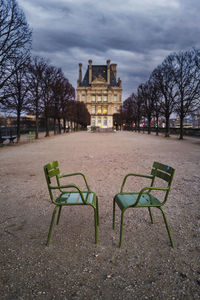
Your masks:
{"label": "green metal armchair on the right, facing left", "polygon": [[[123,222],[124,222],[124,212],[127,208],[134,207],[147,207],[151,219],[151,223],[153,224],[153,217],[151,213],[151,207],[157,207],[161,210],[165,226],[169,235],[169,239],[171,242],[171,246],[174,247],[173,239],[171,236],[171,232],[167,223],[167,219],[165,213],[163,211],[162,206],[166,203],[169,191],[171,188],[172,180],[174,177],[175,170],[169,166],[163,165],[159,162],[154,162],[151,170],[151,175],[141,175],[141,174],[127,174],[124,177],[122,182],[120,193],[115,195],[113,199],[113,229],[115,229],[115,204],[117,203],[118,207],[121,210],[121,227],[120,227],[120,242],[119,247],[122,245],[122,235],[123,235]],[[135,192],[123,192],[126,180],[129,176],[137,176],[149,178],[151,183],[149,186],[142,188],[138,193]],[[164,180],[166,183],[166,187],[157,187],[155,186],[155,179],[159,178],[159,180]],[[163,199],[159,200],[155,196],[152,195],[152,191],[164,191]]]}

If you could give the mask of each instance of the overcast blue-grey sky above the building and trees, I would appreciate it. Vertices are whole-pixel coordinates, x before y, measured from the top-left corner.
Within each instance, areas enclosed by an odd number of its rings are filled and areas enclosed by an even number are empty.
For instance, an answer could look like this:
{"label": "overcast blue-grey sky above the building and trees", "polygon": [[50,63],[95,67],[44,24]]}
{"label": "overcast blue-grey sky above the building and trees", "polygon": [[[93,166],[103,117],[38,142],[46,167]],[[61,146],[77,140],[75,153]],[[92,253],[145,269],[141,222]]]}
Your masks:
{"label": "overcast blue-grey sky above the building and trees", "polygon": [[78,63],[117,64],[123,100],[171,52],[200,48],[200,0],[18,0],[33,30],[33,55],[77,87]]}

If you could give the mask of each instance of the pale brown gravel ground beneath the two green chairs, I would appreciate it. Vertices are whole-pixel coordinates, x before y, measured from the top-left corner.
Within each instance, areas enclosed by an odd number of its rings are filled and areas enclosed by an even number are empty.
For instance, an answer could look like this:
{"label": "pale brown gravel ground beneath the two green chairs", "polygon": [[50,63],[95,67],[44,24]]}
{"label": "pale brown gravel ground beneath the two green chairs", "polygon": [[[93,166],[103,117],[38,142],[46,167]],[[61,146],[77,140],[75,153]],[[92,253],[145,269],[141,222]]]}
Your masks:
{"label": "pale brown gravel ground beneath the two green chairs", "polygon": [[[200,299],[200,140],[132,132],[79,132],[0,148],[0,299]],[[93,210],[66,207],[46,247],[53,205],[43,165],[81,171],[99,197],[99,243]],[[164,209],[120,211],[112,200],[128,172],[149,174],[160,161],[176,169]],[[139,189],[140,182],[128,182]]]}

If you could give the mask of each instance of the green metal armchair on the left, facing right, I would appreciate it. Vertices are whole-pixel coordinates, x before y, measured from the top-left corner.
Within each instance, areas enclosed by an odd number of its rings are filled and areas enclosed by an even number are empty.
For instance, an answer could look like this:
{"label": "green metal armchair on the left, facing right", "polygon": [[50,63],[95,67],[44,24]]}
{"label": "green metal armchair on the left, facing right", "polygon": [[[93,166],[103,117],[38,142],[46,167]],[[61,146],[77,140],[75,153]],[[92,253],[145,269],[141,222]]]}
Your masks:
{"label": "green metal armchair on the left, facing right", "polygon": [[[98,209],[98,197],[92,192],[87,183],[86,177],[82,173],[72,173],[66,175],[60,175],[58,162],[53,161],[44,166],[44,173],[47,181],[47,186],[52,203],[55,205],[53,210],[51,223],[49,227],[49,233],[47,237],[46,245],[49,245],[51,233],[53,229],[54,219],[58,210],[57,225],[60,220],[61,210],[63,206],[67,205],[89,205],[94,209],[94,225],[95,225],[95,243],[98,242],[97,226],[99,225],[99,209]],[[60,179],[70,176],[82,176],[86,185],[86,191],[82,191],[77,185],[61,185]],[[56,195],[55,195],[56,194]]]}

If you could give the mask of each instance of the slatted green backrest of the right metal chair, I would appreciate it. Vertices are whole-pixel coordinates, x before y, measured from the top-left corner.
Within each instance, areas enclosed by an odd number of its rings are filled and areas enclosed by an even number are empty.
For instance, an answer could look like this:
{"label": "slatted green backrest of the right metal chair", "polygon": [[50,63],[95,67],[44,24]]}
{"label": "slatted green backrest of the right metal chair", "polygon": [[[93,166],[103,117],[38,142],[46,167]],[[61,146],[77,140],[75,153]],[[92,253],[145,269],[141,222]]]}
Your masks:
{"label": "slatted green backrest of the right metal chair", "polygon": [[154,162],[151,170],[151,175],[153,175],[152,186],[154,184],[155,178],[158,177],[167,182],[167,191],[165,194],[165,199],[163,204],[167,201],[168,194],[171,188],[172,180],[174,177],[175,169],[170,166],[161,164],[159,162]]}

